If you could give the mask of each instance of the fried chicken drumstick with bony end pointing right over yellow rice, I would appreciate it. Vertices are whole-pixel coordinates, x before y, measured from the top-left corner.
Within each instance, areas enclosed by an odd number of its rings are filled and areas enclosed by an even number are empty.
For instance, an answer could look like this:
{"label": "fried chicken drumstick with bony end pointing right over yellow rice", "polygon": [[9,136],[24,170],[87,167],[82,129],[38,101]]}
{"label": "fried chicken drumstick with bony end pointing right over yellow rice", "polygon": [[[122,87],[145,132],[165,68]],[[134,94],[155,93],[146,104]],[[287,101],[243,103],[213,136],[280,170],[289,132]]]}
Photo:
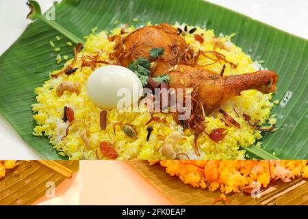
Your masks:
{"label": "fried chicken drumstick with bony end pointing right over yellow rice", "polygon": [[[179,70],[181,68],[183,70]],[[205,105],[206,110],[214,110],[243,90],[259,90],[266,94],[274,92],[278,80],[277,74],[271,70],[220,77],[204,68],[187,65],[179,65],[168,75],[170,88],[196,88],[196,99]]]}

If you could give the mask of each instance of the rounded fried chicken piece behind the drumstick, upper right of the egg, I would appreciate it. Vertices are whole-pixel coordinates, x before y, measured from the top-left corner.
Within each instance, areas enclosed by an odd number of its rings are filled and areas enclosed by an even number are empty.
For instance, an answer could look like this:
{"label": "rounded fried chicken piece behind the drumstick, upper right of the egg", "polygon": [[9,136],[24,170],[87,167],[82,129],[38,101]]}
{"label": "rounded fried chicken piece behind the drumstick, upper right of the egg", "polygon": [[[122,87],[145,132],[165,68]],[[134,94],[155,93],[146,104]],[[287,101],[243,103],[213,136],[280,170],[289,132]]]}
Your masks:
{"label": "rounded fried chicken piece behind the drumstick, upper right of the egg", "polygon": [[133,31],[123,44],[126,49],[119,61],[125,67],[138,57],[146,57],[152,62],[154,60],[149,56],[151,49],[164,48],[164,55],[156,60],[152,68],[152,73],[157,75],[166,73],[175,64],[185,64],[185,50],[188,49],[185,40],[177,35],[177,29],[166,23]]}

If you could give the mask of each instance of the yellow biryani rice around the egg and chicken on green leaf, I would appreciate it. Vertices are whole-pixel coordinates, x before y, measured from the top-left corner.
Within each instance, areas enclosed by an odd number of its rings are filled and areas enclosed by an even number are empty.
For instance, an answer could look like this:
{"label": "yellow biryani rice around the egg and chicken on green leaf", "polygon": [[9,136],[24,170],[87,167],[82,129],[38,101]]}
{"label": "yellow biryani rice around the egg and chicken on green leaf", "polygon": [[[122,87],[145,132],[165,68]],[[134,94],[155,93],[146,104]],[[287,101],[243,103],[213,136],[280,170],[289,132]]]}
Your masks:
{"label": "yellow biryani rice around the egg and chicken on green leaf", "polygon": [[[149,25],[149,23],[148,23]],[[179,27],[179,24],[175,24]],[[122,27],[117,27],[110,31],[110,35],[120,34]],[[189,27],[192,28],[192,27]],[[215,36],[214,30],[202,29],[196,27],[194,34],[202,35],[204,38],[203,44],[194,39],[193,35],[185,36],[185,41],[194,48],[202,50],[214,50],[213,38]],[[125,31],[129,34],[136,28],[127,27]],[[240,47],[237,47],[231,42],[230,36],[223,36],[220,34],[218,38],[224,43],[226,49],[216,48],[216,51],[224,54],[227,60],[238,64],[237,68],[231,68],[227,65],[224,75],[236,75],[242,73],[251,73],[259,70],[261,65],[258,62],[253,62],[249,55],[246,55]],[[57,78],[50,77],[49,80],[36,88],[37,103],[32,105],[34,112],[34,119],[36,120],[36,127],[34,128],[34,136],[47,136],[53,148],[59,151],[62,156],[68,156],[69,159],[105,159],[99,150],[100,142],[111,142],[114,149],[118,152],[118,159],[164,159],[165,157],[159,153],[159,148],[164,143],[164,138],[174,131],[179,131],[183,138],[175,145],[176,153],[185,153],[190,159],[245,159],[245,151],[241,146],[250,146],[256,144],[257,140],[261,139],[261,131],[253,129],[242,118],[238,117],[233,108],[239,113],[251,116],[252,123],[263,125],[270,116],[270,111],[273,107],[271,103],[271,94],[262,94],[256,90],[247,90],[241,93],[241,96],[235,96],[229,101],[221,105],[221,108],[231,115],[240,123],[241,129],[235,127],[227,127],[220,121],[221,114],[214,111],[205,118],[206,131],[210,133],[211,130],[217,128],[227,129],[227,136],[220,142],[214,142],[205,134],[198,137],[197,144],[201,156],[198,157],[194,153],[194,133],[189,129],[185,131],[180,125],[177,125],[172,119],[171,114],[155,114],[160,118],[165,118],[167,123],[152,122],[151,125],[154,131],[151,133],[149,142],[146,142],[146,122],[151,118],[149,112],[118,112],[118,110],[110,110],[107,112],[107,128],[101,131],[99,123],[99,114],[101,109],[94,105],[88,98],[86,93],[86,81],[88,76],[93,72],[90,67],[80,68],[81,57],[85,55],[99,54],[99,60],[110,62],[109,54],[112,53],[114,42],[107,39],[107,32],[101,31],[99,34],[90,34],[86,37],[86,44],[84,49],[78,53],[78,59],[73,67],[77,67],[77,71],[72,75],[62,74]],[[68,60],[65,65],[68,65],[72,60]],[[209,64],[212,60],[205,57],[198,58],[198,64]],[[99,64],[103,66],[105,64]],[[220,73],[223,63],[211,64],[208,66],[209,70]],[[55,70],[51,75],[59,73],[60,70]],[[62,81],[72,81],[77,84],[80,93],[64,92],[60,97],[57,96],[55,88]],[[107,95],[107,94],[105,94]],[[66,138],[66,128],[69,123],[62,120],[64,116],[64,106],[71,107],[75,112],[75,119],[80,119],[86,123],[88,127],[88,139],[90,140],[90,147],[88,149],[81,139],[80,125],[73,125]],[[270,118],[270,124],[276,123],[275,118]],[[128,123],[132,125],[137,133],[138,138],[133,139],[126,136],[122,127],[116,126],[116,135],[114,135],[114,124]],[[257,145],[260,146],[258,143]]]}

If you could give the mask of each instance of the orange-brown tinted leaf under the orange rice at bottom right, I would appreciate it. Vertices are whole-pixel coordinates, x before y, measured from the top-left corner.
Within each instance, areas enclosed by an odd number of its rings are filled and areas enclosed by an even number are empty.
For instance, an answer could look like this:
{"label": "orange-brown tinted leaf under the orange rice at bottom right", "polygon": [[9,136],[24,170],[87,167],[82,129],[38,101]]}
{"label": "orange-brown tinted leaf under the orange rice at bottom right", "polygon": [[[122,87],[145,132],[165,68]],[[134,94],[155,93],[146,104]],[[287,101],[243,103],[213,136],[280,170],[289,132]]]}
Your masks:
{"label": "orange-brown tinted leaf under the orange rice at bottom right", "polygon": [[[213,205],[214,200],[220,196],[220,192],[193,188],[192,185],[184,184],[178,177],[170,177],[158,164],[150,166],[148,162],[138,159],[131,160],[129,164],[175,205]],[[275,190],[260,198],[252,198],[248,194],[229,194],[227,198],[230,205],[308,205],[307,180],[295,179],[290,183],[277,181],[270,186]],[[222,201],[216,203],[223,204]]]}

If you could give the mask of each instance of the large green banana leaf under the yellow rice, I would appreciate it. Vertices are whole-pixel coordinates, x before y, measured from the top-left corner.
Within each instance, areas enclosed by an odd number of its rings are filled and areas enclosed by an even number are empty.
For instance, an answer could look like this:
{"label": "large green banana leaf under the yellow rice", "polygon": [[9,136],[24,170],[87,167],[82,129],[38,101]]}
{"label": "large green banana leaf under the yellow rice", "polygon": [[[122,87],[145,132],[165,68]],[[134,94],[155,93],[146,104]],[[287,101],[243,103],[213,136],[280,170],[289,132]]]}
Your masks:
{"label": "large green banana leaf under the yellow rice", "polygon": [[[0,57],[0,113],[16,132],[44,159],[64,159],[52,149],[47,138],[32,136],[34,120],[31,104],[34,88],[41,86],[55,63],[57,54],[73,56],[67,41],[83,41],[93,27],[112,29],[115,22],[142,25],[152,23],[188,23],[206,25],[216,34],[236,33],[233,42],[251,52],[253,59],[265,60],[264,66],[279,73],[274,99],[281,100],[272,114],[277,114],[276,132],[264,133],[262,149],[245,148],[251,157],[261,159],[308,159],[308,49],[307,40],[255,21],[218,5],[196,0],[64,0],[55,5],[55,20],[40,15],[31,1],[36,19],[8,51]],[[138,18],[133,22],[133,18]],[[136,21],[136,20],[134,20]],[[61,50],[56,53],[49,41],[55,36]],[[274,153],[274,155],[272,155]]]}

